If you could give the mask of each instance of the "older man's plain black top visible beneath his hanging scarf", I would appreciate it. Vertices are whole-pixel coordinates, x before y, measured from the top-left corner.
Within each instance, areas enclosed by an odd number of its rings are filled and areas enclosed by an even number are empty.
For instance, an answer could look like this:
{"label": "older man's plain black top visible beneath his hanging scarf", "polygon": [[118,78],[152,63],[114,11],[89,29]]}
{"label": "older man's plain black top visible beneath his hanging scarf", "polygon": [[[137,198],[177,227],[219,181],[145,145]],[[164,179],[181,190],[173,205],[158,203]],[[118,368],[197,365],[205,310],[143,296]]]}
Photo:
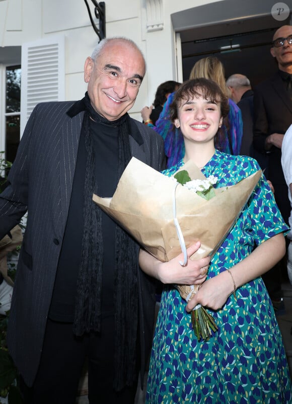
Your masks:
{"label": "older man's plain black top visible beneath his hanging scarf", "polygon": [[[118,127],[108,127],[91,121],[91,129],[95,152],[95,176],[98,195],[101,197],[112,197],[118,182]],[[74,321],[76,287],[81,262],[84,227],[83,189],[85,167],[86,150],[84,131],[82,130],[68,218],[49,311],[49,318],[55,321]],[[104,241],[102,317],[105,317],[113,315],[115,223],[104,212],[102,212],[102,232]]]}

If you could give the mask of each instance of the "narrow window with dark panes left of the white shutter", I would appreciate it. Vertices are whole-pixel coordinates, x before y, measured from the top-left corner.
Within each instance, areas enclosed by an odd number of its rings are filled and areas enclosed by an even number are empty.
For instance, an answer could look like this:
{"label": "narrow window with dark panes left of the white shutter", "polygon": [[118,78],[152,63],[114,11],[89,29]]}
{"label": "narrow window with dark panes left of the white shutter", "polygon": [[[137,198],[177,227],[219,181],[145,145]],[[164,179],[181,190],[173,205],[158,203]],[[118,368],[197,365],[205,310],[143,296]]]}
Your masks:
{"label": "narrow window with dark panes left of the white shutter", "polygon": [[5,82],[5,158],[13,163],[20,141],[20,65],[6,67]]}

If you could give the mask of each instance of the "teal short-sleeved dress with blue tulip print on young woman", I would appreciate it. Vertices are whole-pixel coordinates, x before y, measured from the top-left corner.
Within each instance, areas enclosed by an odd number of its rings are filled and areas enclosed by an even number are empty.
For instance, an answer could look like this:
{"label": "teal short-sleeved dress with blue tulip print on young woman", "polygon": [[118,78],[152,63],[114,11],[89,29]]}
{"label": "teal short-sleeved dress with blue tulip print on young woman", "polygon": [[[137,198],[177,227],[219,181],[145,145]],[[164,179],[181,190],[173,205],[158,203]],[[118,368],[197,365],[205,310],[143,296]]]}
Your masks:
{"label": "teal short-sleeved dress with blue tulip print on young woman", "polygon": [[[171,176],[181,161],[164,174]],[[202,173],[231,186],[259,170],[257,161],[216,151]],[[215,186],[216,187],[216,186]],[[213,223],[216,226],[216,223]],[[232,268],[273,235],[286,231],[273,194],[262,176],[245,209],[211,260],[208,277]],[[146,402],[292,403],[291,380],[272,303],[261,278],[231,295],[222,309],[209,310],[218,330],[197,341],[186,302],[174,287],[161,297]]]}

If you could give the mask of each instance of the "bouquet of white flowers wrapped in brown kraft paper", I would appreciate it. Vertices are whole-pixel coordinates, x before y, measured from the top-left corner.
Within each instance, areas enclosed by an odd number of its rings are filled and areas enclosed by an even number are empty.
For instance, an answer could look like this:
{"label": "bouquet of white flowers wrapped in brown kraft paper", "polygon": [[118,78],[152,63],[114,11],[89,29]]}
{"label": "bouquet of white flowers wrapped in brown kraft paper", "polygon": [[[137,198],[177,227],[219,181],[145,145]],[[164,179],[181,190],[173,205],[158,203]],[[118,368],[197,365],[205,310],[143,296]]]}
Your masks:
{"label": "bouquet of white flowers wrapped in brown kraft paper", "polygon": [[[191,160],[182,170],[187,172],[191,180],[206,180]],[[260,176],[259,170],[231,187],[209,187],[212,197],[206,199],[200,194],[201,191],[193,192],[132,157],[113,197],[93,195],[93,200],[160,261],[169,261],[181,251],[186,257],[186,248],[199,240],[201,246],[191,256],[192,260],[196,260],[215,254]],[[186,300],[197,292],[195,285],[176,287]],[[198,339],[208,338],[211,330],[216,330],[212,317],[206,310],[194,310],[193,313],[193,327]],[[201,313],[204,317],[201,324],[208,324],[205,332],[197,329],[197,317],[201,317]]]}

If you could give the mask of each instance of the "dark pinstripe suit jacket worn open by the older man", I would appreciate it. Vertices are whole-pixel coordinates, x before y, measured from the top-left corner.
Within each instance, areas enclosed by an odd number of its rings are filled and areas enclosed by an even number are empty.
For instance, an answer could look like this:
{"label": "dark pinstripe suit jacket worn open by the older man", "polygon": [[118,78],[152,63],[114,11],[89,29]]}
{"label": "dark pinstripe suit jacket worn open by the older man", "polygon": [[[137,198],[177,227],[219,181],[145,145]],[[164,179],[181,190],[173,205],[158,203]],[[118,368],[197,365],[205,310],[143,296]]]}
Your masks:
{"label": "dark pinstripe suit jacket worn open by the older man", "polygon": [[[8,329],[10,353],[28,385],[34,381],[40,360],[83,116],[82,101],[37,105],[9,174],[10,185],[0,196],[0,239],[28,210]],[[130,135],[132,155],[156,170],[163,169],[161,136],[131,119],[131,128],[133,125],[141,138],[137,142]],[[155,292],[152,280],[138,264],[137,271],[143,372],[152,343]]]}

